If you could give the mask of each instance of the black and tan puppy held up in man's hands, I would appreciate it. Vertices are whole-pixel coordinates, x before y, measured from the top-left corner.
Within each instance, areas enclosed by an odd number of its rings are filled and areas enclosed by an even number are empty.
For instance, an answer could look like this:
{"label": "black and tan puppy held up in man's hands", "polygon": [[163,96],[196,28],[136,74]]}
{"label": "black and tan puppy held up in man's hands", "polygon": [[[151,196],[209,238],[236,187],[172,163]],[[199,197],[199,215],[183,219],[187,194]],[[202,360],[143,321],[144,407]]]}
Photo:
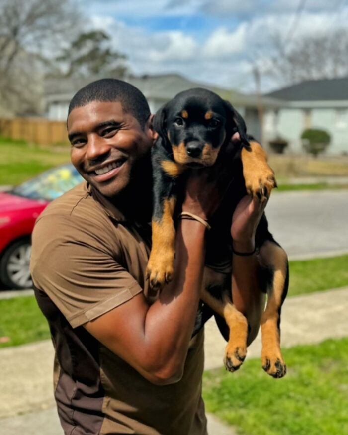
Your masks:
{"label": "black and tan puppy held up in man's hands", "polygon": [[[276,186],[274,173],[260,144],[247,136],[243,118],[230,103],[208,90],[190,89],[176,95],[156,113],[154,128],[159,137],[152,151],[154,208],[152,251],[147,269],[151,287],[160,289],[173,275],[174,217],[185,174],[190,169],[215,164],[226,175],[224,189],[229,186],[226,199],[211,220],[212,229],[207,234],[202,303],[195,330],[213,310],[228,340],[226,368],[235,371],[246,356],[248,322],[231,301],[231,219],[236,205],[246,194],[261,200],[269,196]],[[240,134],[238,143],[231,142],[235,132]],[[261,265],[260,287],[268,295],[261,318],[262,367],[270,375],[282,377],[286,366],[280,351],[279,324],[288,287],[288,263],[285,252],[269,233],[264,215],[257,229],[256,247]]]}

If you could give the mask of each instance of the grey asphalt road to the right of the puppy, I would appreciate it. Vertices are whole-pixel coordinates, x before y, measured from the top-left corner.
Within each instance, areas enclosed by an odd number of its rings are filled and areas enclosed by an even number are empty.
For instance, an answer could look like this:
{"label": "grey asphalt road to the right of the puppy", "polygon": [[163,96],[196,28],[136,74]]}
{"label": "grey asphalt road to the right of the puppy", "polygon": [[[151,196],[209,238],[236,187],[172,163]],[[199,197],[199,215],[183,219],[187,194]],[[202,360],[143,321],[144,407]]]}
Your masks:
{"label": "grey asphalt road to the right of the puppy", "polygon": [[348,191],[274,192],[269,230],[290,258],[348,253]]}

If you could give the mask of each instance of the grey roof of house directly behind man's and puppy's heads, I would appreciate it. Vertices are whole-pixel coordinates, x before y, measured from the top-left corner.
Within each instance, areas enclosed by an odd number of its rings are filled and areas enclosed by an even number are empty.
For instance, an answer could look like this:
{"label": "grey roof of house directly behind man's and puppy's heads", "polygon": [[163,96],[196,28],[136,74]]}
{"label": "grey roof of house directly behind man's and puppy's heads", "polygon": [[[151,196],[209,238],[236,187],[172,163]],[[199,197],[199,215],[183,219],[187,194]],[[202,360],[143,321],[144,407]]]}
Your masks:
{"label": "grey roof of house directly behind man's and puppy's heads", "polygon": [[[88,79],[47,79],[44,85],[46,100],[70,101],[81,87],[97,79],[99,79],[99,77],[89,77]],[[257,105],[257,97],[255,95],[245,95],[235,90],[193,82],[174,73],[129,76],[126,80],[135,87],[138,87],[148,99],[156,98],[165,102],[182,90],[191,89],[193,87],[204,87],[216,92],[222,98],[231,101],[231,103],[237,107],[256,107]],[[270,106],[282,104],[275,99],[267,97],[263,97],[263,103]]]}

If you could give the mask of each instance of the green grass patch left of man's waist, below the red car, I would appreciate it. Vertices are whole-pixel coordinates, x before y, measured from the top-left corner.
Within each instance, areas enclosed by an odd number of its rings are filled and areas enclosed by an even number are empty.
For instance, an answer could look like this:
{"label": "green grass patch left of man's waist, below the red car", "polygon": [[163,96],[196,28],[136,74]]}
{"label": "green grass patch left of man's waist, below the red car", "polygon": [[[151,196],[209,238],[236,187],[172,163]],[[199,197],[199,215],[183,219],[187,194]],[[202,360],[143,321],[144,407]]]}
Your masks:
{"label": "green grass patch left of man's waist, below the red car", "polygon": [[[50,338],[48,324],[34,296],[0,300],[0,348]],[[6,340],[6,339],[5,339]]]}

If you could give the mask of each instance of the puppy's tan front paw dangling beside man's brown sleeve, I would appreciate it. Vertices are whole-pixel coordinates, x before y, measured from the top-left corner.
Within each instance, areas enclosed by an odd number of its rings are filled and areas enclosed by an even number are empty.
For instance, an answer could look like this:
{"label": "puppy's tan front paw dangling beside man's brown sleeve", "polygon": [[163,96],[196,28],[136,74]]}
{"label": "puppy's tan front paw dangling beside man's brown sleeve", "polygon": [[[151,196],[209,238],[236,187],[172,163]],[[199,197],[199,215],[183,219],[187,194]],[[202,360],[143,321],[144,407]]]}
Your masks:
{"label": "puppy's tan front paw dangling beside man's brown sleeve", "polygon": [[149,279],[150,287],[161,290],[163,286],[170,282],[174,271],[174,251],[162,253],[151,252],[146,269],[146,278]]}

